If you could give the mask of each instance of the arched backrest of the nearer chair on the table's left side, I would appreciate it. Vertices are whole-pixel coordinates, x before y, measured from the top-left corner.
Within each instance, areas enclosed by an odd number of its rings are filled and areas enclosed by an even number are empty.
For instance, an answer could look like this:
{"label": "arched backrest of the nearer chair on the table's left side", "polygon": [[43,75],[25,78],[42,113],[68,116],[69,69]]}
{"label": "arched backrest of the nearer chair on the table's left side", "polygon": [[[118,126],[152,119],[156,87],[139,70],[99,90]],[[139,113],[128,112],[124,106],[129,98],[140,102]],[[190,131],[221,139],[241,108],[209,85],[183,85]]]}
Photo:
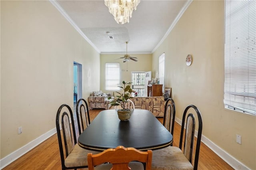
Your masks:
{"label": "arched backrest of the nearer chair on the table's left side", "polygon": [[71,108],[66,104],[61,105],[57,111],[56,130],[60,148],[60,159],[63,168],[65,167],[64,160],[77,143],[73,113]]}

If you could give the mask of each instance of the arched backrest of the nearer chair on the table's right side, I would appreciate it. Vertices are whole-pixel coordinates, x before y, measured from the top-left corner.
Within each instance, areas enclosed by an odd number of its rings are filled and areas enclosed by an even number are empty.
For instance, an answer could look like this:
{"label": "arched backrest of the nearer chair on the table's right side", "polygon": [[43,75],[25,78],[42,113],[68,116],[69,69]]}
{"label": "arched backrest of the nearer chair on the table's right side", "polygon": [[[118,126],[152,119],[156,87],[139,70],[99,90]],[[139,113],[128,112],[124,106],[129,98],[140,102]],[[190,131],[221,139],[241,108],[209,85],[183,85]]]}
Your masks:
{"label": "arched backrest of the nearer chair on the table's right side", "polygon": [[[188,109],[194,109],[196,113],[188,113]],[[201,136],[202,136],[202,117],[200,111],[197,109],[195,105],[188,105],[184,110],[183,117],[182,117],[182,125],[181,125],[181,132],[180,132],[180,145],[179,148],[182,150],[182,141],[183,141],[183,132],[184,126],[186,121],[186,132],[184,138],[184,146],[183,152],[186,158],[192,164],[192,155],[194,150],[194,138],[195,138],[195,129],[196,129],[196,121],[195,116],[198,118],[198,134],[197,134],[197,141],[196,141],[196,152],[194,158],[194,170],[198,167],[198,158],[199,158],[199,151],[200,151],[200,143],[201,143]]]}

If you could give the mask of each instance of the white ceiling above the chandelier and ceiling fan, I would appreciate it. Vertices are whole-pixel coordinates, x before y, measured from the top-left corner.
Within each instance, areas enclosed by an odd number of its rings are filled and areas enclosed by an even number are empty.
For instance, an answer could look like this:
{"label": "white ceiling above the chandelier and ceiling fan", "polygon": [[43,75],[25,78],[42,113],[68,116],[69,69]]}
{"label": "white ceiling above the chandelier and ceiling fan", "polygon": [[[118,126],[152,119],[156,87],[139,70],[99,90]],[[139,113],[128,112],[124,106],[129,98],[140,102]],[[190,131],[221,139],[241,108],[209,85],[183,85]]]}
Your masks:
{"label": "white ceiling above the chandelier and ceiling fan", "polygon": [[[104,0],[57,0],[100,53],[152,53],[186,0],[141,0],[130,22],[117,24]],[[108,34],[114,39],[108,38]]]}

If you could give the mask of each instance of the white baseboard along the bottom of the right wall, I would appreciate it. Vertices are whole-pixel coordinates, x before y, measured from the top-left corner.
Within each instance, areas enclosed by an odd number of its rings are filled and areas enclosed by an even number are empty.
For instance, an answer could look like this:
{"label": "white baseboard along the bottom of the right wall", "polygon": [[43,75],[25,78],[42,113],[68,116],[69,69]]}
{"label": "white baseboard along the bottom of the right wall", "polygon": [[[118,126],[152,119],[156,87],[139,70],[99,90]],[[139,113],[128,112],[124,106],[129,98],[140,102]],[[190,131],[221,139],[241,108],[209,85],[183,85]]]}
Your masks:
{"label": "white baseboard along the bottom of the right wall", "polygon": [[[182,121],[178,118],[175,118],[175,121],[181,125]],[[175,128],[175,127],[174,127]],[[196,131],[197,136],[197,131]],[[210,148],[214,153],[216,153],[222,160],[224,160],[227,164],[229,164],[235,170],[250,170],[247,166],[239,162],[236,158],[231,156],[228,152],[214,144],[211,140],[206,138],[204,135],[201,137],[201,142],[203,142],[208,148]],[[200,155],[200,153],[199,153]]]}

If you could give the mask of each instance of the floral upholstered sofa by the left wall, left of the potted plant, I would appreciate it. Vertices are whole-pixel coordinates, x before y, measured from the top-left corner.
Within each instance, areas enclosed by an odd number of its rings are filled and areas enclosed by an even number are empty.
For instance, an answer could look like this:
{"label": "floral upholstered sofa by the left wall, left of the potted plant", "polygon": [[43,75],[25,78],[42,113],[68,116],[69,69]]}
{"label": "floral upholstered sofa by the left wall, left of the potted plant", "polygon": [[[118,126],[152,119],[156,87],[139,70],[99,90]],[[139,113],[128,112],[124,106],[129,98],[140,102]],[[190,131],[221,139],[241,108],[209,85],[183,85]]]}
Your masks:
{"label": "floral upholstered sofa by the left wall, left of the potted plant", "polygon": [[109,102],[112,99],[108,100],[108,97],[111,97],[111,93],[102,93],[102,91],[93,91],[92,94],[88,97],[89,108],[91,109],[106,109],[110,108]]}

